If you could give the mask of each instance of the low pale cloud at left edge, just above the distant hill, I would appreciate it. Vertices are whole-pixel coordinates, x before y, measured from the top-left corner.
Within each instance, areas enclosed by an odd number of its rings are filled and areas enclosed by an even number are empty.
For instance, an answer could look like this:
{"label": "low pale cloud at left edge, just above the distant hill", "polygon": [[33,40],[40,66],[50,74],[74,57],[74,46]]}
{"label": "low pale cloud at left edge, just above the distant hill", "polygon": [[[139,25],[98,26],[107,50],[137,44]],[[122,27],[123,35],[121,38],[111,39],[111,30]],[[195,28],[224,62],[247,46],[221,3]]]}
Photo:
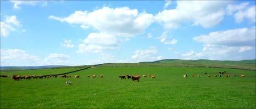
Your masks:
{"label": "low pale cloud at left edge, just above the distant hill", "polygon": [[19,49],[1,49],[1,66],[24,66],[35,65],[39,58]]}

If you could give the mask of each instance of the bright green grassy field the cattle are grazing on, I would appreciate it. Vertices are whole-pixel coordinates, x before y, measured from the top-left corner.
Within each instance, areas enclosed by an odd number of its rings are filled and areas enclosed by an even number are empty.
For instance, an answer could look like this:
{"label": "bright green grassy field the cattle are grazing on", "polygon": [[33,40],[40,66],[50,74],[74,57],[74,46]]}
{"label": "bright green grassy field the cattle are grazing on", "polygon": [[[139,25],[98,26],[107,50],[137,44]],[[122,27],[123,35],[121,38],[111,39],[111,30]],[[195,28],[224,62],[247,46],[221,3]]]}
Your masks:
{"label": "bright green grassy field the cattle are grazing on", "polygon": [[[255,71],[103,66],[74,72],[70,74],[72,78],[14,81],[1,77],[1,108],[255,108]],[[45,70],[58,72],[55,71],[57,69]],[[238,77],[213,77],[219,71],[237,74]],[[22,74],[42,72],[43,69]],[[208,78],[204,72],[212,77]],[[140,82],[120,80],[119,75],[125,74],[153,74],[156,78],[142,77]],[[184,74],[188,77],[183,78]],[[191,77],[192,74],[203,77]],[[241,78],[241,74],[246,77]],[[80,78],[75,79],[74,75]],[[86,75],[97,77],[88,78]],[[104,78],[98,75],[104,75]],[[67,80],[72,82],[71,86],[65,84]]]}

